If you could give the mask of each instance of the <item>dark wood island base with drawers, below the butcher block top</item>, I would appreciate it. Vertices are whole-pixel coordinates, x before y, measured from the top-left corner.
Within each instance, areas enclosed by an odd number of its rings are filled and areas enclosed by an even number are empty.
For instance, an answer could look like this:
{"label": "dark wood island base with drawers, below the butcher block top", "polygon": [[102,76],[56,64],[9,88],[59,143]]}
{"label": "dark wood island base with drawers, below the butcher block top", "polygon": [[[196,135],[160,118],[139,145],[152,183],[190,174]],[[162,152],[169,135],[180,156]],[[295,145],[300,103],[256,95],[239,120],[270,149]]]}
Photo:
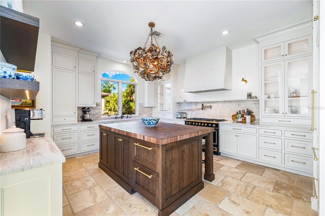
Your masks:
{"label": "dark wood island base with drawers, below the butcher block top", "polygon": [[128,193],[149,200],[159,215],[169,215],[203,189],[201,145],[200,136],[157,145],[100,129],[99,167]]}

